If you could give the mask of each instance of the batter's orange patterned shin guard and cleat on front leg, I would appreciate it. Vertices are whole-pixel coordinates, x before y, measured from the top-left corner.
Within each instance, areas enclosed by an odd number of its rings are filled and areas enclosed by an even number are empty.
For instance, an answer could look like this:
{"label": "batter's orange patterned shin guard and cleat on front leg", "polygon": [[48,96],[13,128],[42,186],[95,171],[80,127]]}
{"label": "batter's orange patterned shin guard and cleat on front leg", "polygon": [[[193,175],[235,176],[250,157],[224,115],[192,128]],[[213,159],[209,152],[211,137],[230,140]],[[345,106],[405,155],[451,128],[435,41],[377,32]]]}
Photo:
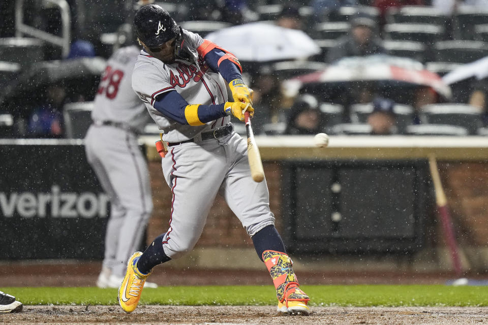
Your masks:
{"label": "batter's orange patterned shin guard and cleat on front leg", "polygon": [[266,250],[263,252],[263,261],[275,284],[278,311],[292,315],[309,315],[307,303],[310,298],[298,287],[291,258],[282,252]]}

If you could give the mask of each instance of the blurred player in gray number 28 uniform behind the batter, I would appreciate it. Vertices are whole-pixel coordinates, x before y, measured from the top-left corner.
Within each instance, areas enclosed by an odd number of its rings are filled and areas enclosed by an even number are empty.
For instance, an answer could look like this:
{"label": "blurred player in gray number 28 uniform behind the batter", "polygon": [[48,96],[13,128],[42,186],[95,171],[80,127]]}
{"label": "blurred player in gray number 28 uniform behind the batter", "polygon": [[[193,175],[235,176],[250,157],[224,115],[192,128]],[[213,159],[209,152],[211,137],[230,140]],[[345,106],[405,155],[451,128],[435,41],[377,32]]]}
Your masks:
{"label": "blurred player in gray number 28 uniform behind the batter", "polygon": [[[153,211],[149,173],[137,143],[137,134],[149,118],[131,86],[139,51],[137,46],[123,47],[108,59],[95,96],[94,122],[85,138],[86,157],[111,208],[97,280],[101,288],[118,288]],[[157,285],[146,283],[146,287]]]}

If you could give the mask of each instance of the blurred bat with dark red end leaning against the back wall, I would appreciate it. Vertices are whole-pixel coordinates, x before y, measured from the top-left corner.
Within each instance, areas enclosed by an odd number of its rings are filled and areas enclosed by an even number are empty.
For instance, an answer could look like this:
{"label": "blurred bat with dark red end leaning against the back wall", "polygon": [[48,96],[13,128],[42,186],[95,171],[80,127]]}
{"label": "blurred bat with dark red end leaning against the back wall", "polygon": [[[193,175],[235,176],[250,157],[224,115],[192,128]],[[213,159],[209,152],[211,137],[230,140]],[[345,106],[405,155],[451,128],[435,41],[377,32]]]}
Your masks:
{"label": "blurred bat with dark red end leaning against the back wall", "polygon": [[461,276],[463,270],[461,269],[461,261],[459,258],[459,247],[457,246],[456,237],[454,236],[451,215],[447,208],[446,194],[442,187],[441,177],[439,176],[436,157],[434,155],[429,155],[429,167],[431,169],[432,181],[434,182],[434,190],[436,192],[437,213],[444,230],[444,236],[446,236],[447,246],[451,253],[452,265],[456,276]]}

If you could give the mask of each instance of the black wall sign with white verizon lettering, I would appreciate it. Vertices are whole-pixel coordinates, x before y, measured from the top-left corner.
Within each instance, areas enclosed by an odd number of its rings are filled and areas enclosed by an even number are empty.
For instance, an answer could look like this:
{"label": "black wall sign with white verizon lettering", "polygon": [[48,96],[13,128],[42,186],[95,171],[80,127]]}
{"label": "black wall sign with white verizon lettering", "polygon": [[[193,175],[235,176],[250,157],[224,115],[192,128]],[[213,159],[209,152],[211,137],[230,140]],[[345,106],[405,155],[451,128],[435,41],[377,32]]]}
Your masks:
{"label": "black wall sign with white verizon lettering", "polygon": [[0,140],[0,259],[101,259],[110,205],[69,140]]}

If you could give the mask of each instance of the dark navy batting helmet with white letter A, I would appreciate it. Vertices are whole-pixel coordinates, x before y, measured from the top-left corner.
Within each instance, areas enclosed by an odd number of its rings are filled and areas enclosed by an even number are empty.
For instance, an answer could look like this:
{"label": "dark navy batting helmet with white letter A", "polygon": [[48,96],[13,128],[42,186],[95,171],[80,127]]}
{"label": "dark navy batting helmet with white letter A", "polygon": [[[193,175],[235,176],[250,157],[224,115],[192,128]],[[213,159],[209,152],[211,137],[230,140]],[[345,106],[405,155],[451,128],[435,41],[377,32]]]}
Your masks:
{"label": "dark navy batting helmet with white letter A", "polygon": [[158,5],[141,7],[134,17],[134,30],[147,47],[158,47],[179,38],[180,28],[169,13]]}

